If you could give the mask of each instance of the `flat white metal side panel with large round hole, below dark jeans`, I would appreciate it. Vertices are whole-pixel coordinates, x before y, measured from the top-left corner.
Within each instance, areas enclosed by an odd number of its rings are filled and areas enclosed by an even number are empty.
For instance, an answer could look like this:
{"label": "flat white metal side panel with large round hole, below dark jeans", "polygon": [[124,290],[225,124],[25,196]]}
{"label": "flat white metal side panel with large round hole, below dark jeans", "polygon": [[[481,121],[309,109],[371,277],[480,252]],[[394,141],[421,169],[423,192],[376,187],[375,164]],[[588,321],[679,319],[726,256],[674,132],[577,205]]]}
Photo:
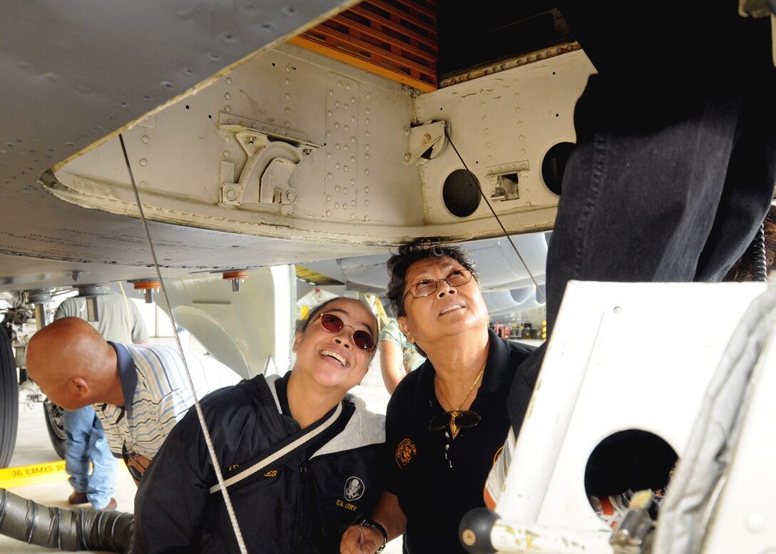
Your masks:
{"label": "flat white metal side panel with large round hole, below dark jeans", "polygon": [[728,341],[764,290],[754,282],[569,282],[496,507],[501,518],[580,537],[611,533],[585,490],[591,453],[636,429],[681,462]]}

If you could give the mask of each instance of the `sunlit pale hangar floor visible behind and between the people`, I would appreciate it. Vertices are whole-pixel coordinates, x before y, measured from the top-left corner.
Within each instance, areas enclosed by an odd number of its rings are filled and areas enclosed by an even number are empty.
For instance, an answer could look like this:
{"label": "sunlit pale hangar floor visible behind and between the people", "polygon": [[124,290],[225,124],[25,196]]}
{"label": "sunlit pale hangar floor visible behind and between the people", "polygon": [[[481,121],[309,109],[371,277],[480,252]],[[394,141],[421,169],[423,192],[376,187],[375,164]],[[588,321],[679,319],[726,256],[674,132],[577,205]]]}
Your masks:
{"label": "sunlit pale hangar floor visible behind and between the people", "polygon": [[[388,393],[383,386],[380,376],[379,355],[375,356],[361,386],[356,387],[353,393],[361,396],[370,410],[385,413],[388,403]],[[43,419],[43,405],[36,403],[32,410],[24,406],[19,407],[19,431],[16,438],[16,450],[11,459],[11,467],[34,466],[44,462],[58,461],[57,454],[48,438],[46,423]],[[68,484],[67,475],[61,473],[58,480],[47,483],[33,483],[9,490],[23,498],[29,498],[40,504],[56,507],[68,507],[67,498],[72,492]],[[133,511],[135,484],[126,469],[120,467],[116,481],[116,502],[121,511]],[[29,554],[30,552],[54,552],[54,549],[46,549],[41,546],[28,545],[0,535],[0,552],[4,554]],[[400,554],[401,540],[390,542],[383,551],[385,554]]]}

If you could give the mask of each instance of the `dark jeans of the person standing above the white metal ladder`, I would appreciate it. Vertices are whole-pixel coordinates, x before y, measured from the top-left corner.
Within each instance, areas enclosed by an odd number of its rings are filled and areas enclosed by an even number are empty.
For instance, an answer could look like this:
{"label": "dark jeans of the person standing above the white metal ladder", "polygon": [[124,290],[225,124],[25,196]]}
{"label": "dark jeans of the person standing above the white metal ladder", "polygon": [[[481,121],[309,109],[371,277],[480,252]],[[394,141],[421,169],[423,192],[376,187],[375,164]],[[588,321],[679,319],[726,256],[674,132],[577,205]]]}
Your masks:
{"label": "dark jeans of the person standing above the white metal ladder", "polygon": [[[570,279],[719,281],[770,207],[774,71],[757,87],[739,90],[662,85],[666,99],[593,75],[577,102],[577,146],[547,252],[548,340]],[[528,383],[544,350],[518,369]],[[508,400],[515,435],[528,407],[518,399],[530,398],[530,391],[518,391],[525,386],[525,379],[514,379]]]}

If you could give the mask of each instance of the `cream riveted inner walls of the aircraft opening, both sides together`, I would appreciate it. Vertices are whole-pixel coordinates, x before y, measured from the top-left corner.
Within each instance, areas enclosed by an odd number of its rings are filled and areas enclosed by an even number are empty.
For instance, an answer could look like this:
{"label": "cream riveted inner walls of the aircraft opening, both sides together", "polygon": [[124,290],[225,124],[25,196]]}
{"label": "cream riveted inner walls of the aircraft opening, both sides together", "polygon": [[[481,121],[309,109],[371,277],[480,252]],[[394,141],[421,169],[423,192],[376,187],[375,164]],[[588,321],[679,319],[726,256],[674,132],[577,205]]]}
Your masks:
{"label": "cream riveted inner walls of the aircraft opening, both sides together", "polygon": [[[390,246],[552,227],[542,164],[573,143],[580,50],[420,94],[288,44],[44,178],[80,206],[319,244]],[[458,154],[456,154],[456,150]],[[456,177],[457,179],[453,178]]]}

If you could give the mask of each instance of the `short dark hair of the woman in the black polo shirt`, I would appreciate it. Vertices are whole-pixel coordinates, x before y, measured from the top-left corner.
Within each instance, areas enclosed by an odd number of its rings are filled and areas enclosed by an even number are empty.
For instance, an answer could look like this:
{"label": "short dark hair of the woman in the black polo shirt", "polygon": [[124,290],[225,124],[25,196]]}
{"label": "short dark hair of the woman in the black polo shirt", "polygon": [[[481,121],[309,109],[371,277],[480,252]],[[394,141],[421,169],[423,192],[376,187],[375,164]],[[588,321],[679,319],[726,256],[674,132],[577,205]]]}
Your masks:
{"label": "short dark hair of the woman in the black polo shirt", "polygon": [[407,286],[407,282],[404,279],[407,276],[407,270],[416,261],[428,258],[452,258],[468,269],[476,281],[480,280],[471,255],[459,246],[439,244],[438,240],[428,238],[404,244],[399,247],[399,252],[393,254],[386,263],[388,270],[386,296],[395,317],[405,315],[404,287]]}

